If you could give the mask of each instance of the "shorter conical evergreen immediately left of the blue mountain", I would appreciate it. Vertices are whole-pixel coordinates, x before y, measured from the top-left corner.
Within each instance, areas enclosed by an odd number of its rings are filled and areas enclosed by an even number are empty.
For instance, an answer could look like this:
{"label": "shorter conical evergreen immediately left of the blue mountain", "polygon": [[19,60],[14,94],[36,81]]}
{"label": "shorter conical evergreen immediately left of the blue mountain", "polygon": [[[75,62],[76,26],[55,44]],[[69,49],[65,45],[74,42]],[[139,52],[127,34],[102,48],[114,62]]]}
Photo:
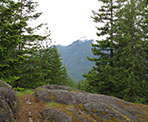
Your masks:
{"label": "shorter conical evergreen immediately left of the blue mountain", "polygon": [[65,85],[67,83],[66,67],[63,66],[56,46],[41,51],[41,67],[44,80],[49,84]]}

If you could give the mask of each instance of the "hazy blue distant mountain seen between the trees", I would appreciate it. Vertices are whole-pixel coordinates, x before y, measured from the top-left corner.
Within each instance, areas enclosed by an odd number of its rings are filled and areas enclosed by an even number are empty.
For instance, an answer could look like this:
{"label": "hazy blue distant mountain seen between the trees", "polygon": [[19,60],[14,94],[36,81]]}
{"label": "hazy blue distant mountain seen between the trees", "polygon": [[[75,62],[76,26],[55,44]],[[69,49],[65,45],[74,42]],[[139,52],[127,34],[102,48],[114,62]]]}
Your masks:
{"label": "hazy blue distant mountain seen between the trees", "polygon": [[93,57],[92,42],[93,40],[80,39],[68,46],[57,46],[63,64],[66,65],[68,75],[76,82],[83,79],[82,74],[87,73],[94,65],[87,59],[87,56]]}

